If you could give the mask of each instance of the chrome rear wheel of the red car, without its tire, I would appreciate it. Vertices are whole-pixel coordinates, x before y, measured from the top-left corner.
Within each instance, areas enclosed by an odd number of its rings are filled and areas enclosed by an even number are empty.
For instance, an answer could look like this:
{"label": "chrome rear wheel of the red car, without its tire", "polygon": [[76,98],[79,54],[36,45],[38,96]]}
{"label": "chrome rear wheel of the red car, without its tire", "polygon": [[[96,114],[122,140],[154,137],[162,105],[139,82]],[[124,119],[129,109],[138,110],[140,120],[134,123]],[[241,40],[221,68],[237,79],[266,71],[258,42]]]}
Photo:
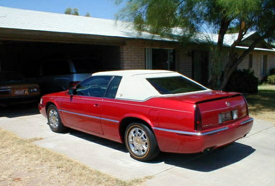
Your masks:
{"label": "chrome rear wheel of the red car, without its tire", "polygon": [[145,131],[139,127],[134,127],[128,135],[128,145],[136,155],[143,155],[148,150],[148,137]]}

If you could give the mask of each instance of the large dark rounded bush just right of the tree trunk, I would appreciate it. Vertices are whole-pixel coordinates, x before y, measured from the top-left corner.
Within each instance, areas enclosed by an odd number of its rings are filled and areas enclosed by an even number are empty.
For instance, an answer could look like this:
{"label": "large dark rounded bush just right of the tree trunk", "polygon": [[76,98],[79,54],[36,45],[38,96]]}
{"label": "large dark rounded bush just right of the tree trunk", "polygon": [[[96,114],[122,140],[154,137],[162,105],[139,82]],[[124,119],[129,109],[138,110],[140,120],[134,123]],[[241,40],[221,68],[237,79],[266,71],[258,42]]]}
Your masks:
{"label": "large dark rounded bush just right of the tree trunk", "polygon": [[254,71],[238,69],[232,73],[225,90],[256,93],[258,91],[258,78],[254,76]]}

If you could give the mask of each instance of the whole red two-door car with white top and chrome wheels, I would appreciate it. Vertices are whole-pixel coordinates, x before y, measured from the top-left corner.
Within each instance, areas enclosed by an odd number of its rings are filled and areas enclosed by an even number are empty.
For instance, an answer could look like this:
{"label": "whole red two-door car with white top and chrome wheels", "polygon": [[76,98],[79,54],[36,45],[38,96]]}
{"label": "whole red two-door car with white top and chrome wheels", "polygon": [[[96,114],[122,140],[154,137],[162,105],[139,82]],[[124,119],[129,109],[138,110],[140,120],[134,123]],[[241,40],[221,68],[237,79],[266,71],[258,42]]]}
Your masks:
{"label": "whole red two-door car with white top and chrome wheels", "polygon": [[66,127],[125,142],[145,161],[159,151],[194,153],[229,144],[251,129],[240,93],[214,91],[173,71],[106,71],[38,105],[54,132]]}

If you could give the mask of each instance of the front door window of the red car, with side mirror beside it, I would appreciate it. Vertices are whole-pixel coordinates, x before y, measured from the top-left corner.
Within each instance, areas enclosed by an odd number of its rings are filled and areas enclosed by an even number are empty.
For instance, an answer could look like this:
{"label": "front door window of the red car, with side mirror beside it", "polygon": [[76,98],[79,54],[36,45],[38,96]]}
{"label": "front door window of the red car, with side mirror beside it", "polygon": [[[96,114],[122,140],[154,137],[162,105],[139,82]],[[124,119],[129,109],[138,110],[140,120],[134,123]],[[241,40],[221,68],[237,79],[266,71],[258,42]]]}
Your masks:
{"label": "front door window of the red car, with side mirror beside it", "polygon": [[76,86],[76,95],[103,97],[111,76],[91,76]]}

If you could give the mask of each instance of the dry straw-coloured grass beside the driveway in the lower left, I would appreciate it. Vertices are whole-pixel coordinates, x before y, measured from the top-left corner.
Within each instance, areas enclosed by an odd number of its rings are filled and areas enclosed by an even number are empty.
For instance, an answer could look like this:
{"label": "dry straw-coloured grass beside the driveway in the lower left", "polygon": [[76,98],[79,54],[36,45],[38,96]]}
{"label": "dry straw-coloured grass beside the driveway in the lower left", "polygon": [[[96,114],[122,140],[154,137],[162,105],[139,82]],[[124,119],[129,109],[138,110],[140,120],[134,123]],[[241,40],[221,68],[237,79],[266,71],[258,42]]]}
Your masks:
{"label": "dry straw-coloured grass beside the driveway in the lower left", "polygon": [[115,178],[32,143],[41,139],[0,128],[0,185],[140,185],[150,178]]}

